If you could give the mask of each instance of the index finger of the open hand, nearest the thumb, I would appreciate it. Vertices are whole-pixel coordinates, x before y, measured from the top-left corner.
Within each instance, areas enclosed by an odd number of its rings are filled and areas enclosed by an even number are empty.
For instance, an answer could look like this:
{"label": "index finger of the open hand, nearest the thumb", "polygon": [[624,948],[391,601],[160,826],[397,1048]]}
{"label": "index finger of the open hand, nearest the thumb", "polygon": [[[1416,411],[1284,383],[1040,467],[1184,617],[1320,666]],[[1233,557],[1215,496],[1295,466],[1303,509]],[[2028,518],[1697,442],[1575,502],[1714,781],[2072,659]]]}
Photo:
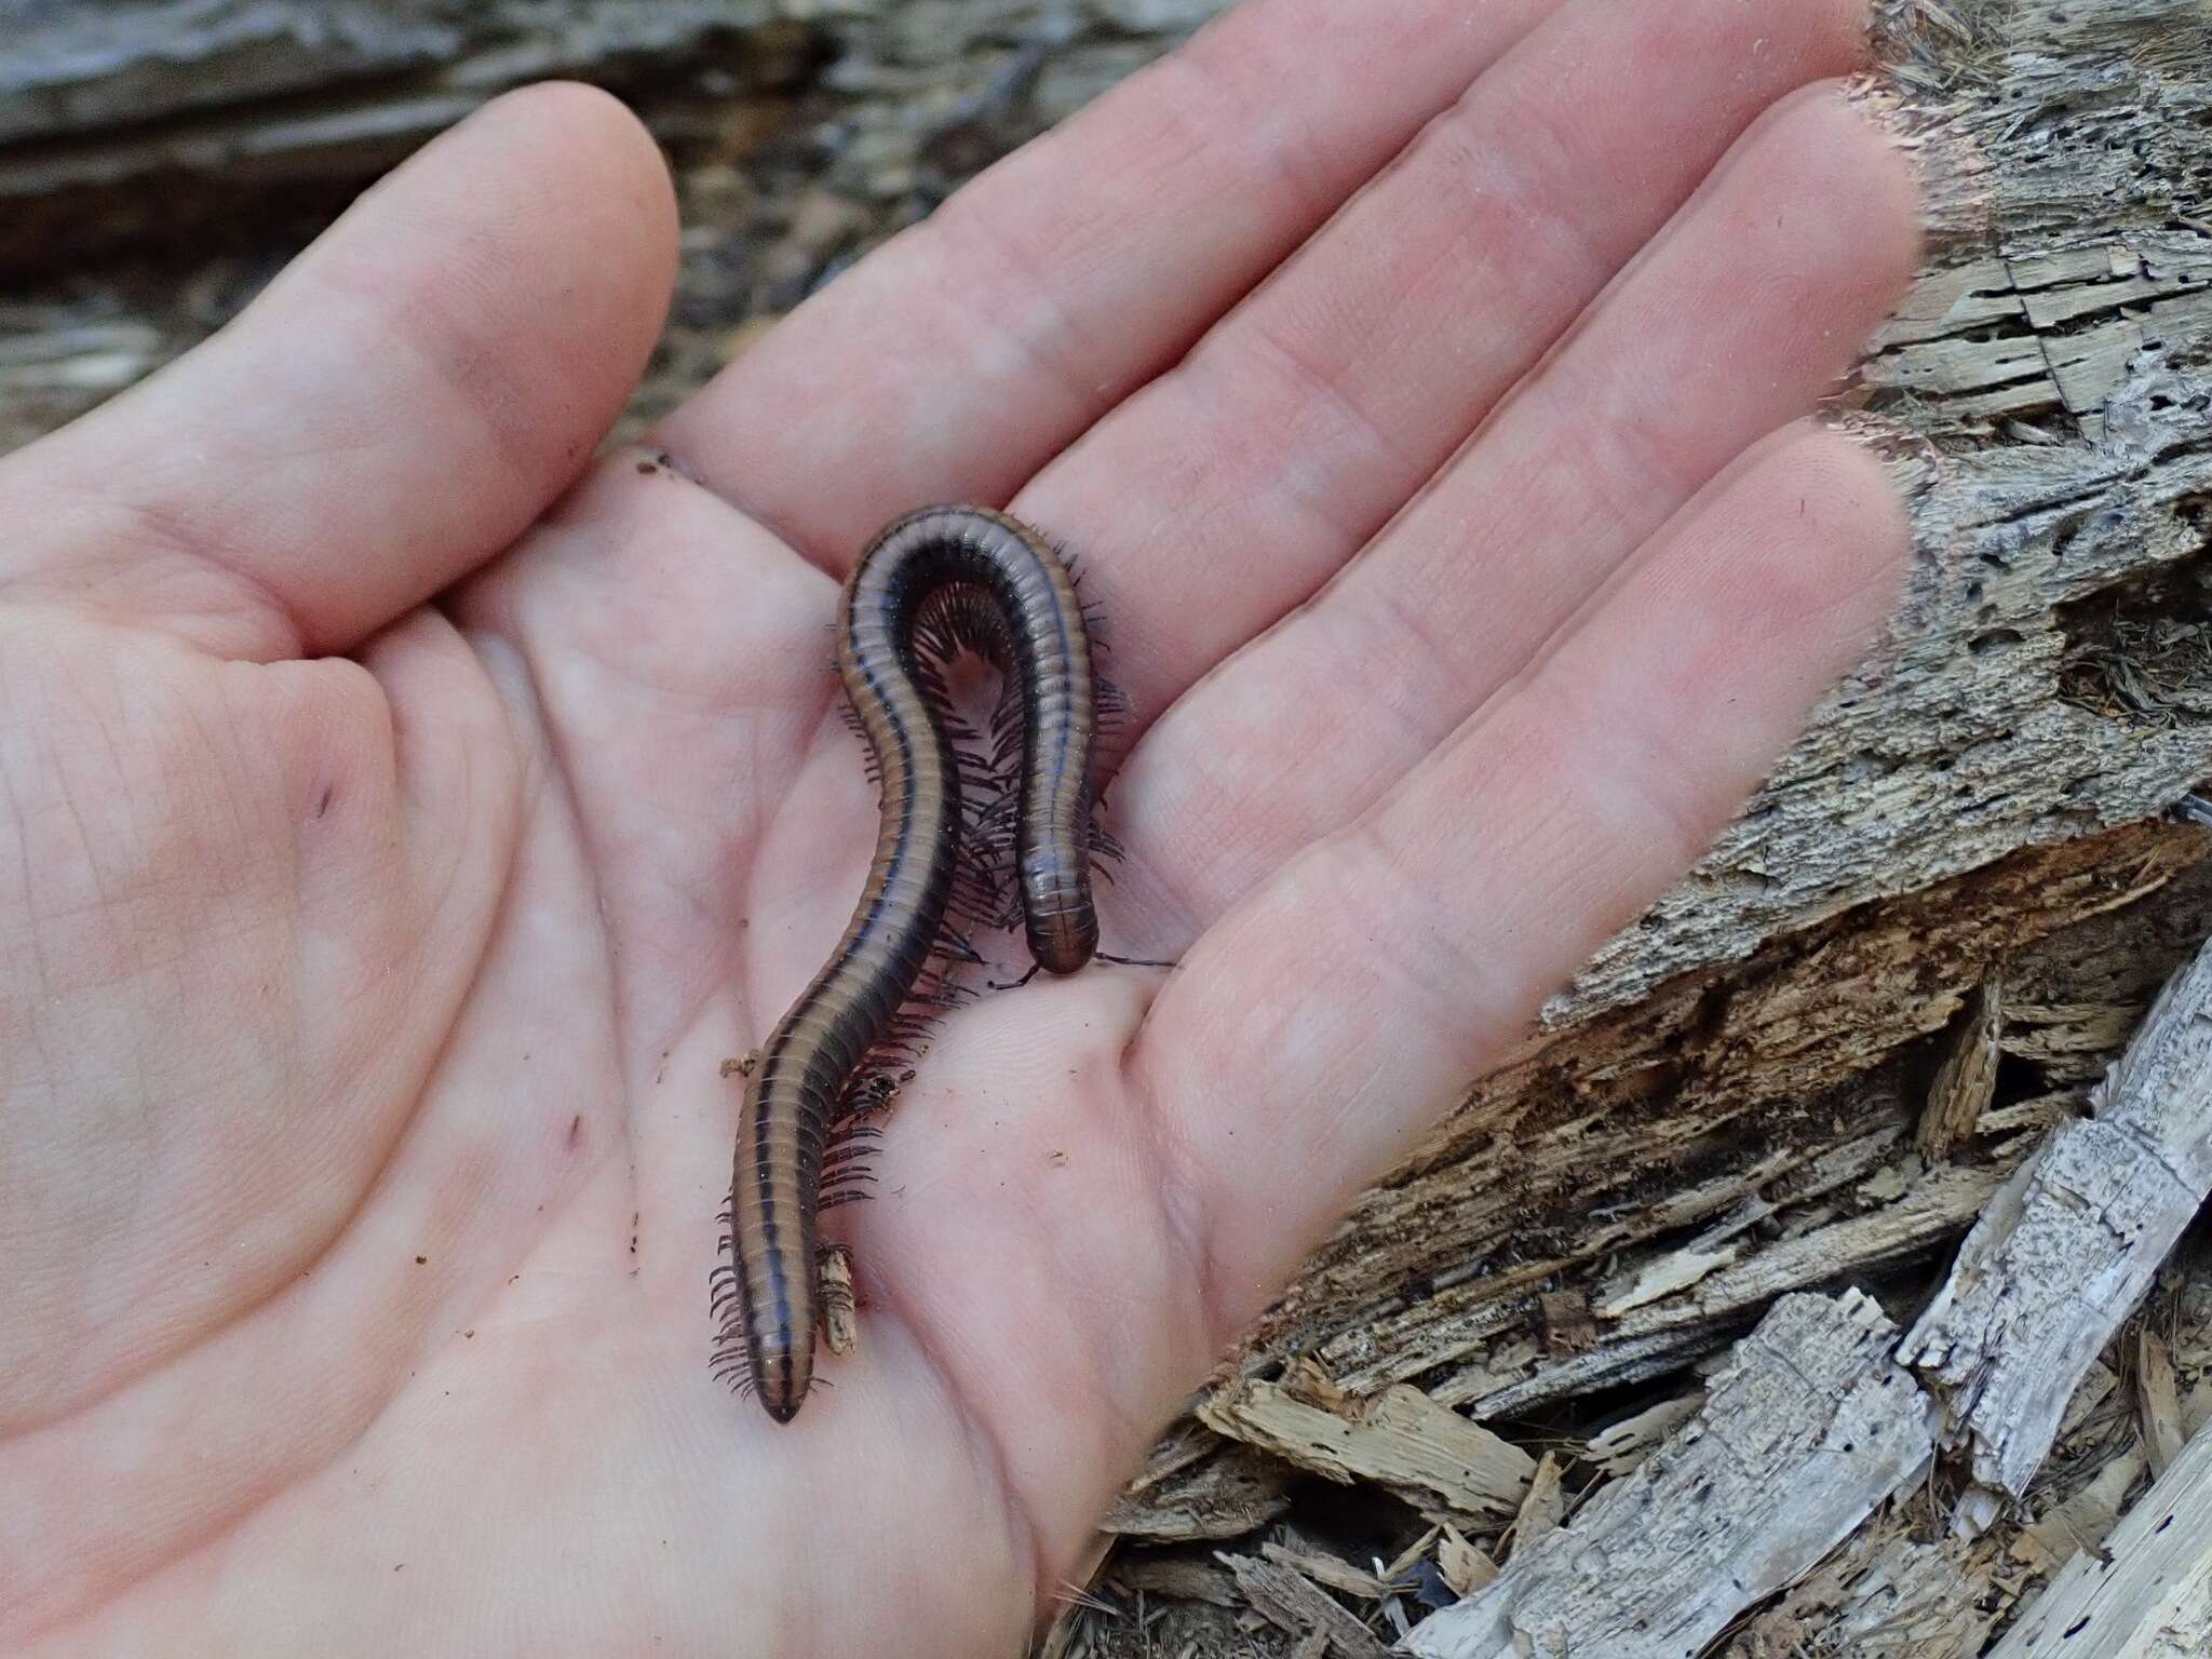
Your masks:
{"label": "index finger of the open hand, nearest the thumb", "polygon": [[763,336],[659,442],[843,575],[1004,504],[1166,369],[1559,0],[1252,0]]}

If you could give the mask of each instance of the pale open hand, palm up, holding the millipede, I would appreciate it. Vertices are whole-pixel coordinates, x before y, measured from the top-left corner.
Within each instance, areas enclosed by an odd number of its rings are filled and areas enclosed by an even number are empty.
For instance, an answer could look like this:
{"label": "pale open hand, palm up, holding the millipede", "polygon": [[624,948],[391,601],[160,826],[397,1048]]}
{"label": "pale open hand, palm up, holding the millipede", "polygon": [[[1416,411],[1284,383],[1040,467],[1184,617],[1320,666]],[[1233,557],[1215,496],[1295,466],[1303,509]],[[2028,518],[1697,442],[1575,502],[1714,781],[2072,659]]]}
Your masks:
{"label": "pale open hand, palm up, holding the millipede", "polygon": [[[1916,257],[1860,31],[1254,0],[597,458],[675,210],[535,88],[0,462],[0,1650],[1020,1652],[1876,635],[1803,420]],[[1106,949],[1181,967],[942,1026],[776,1427],[723,1060],[858,891],[825,624],[931,500],[1084,553]]]}

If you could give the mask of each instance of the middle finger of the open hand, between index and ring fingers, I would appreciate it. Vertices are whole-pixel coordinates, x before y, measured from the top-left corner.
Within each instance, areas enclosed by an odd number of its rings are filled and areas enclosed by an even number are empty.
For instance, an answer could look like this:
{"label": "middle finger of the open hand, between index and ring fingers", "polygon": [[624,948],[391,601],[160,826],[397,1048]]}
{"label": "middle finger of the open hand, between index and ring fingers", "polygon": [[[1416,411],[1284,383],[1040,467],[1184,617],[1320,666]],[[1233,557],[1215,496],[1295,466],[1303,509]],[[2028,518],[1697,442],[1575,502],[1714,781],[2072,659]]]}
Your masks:
{"label": "middle finger of the open hand, between index and ring fingers", "polygon": [[1084,551],[1130,730],[1345,564],[1736,135],[1863,46],[1860,0],[1573,0],[1031,480],[1013,511]]}

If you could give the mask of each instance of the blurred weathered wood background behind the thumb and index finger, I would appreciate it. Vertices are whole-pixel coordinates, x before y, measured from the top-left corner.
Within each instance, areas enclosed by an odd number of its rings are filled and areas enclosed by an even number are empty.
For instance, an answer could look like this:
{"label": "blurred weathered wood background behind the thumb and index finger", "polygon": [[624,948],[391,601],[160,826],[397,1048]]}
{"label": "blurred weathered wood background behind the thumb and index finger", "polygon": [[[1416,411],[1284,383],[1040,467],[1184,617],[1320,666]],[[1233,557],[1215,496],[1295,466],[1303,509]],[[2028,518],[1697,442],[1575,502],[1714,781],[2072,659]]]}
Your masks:
{"label": "blurred weathered wood background behind the thumb and index finger", "polygon": [[677,170],[677,303],[635,434],[1219,7],[0,0],[0,281],[22,288],[0,294],[0,449],[201,341],[361,186],[553,73],[630,100]]}

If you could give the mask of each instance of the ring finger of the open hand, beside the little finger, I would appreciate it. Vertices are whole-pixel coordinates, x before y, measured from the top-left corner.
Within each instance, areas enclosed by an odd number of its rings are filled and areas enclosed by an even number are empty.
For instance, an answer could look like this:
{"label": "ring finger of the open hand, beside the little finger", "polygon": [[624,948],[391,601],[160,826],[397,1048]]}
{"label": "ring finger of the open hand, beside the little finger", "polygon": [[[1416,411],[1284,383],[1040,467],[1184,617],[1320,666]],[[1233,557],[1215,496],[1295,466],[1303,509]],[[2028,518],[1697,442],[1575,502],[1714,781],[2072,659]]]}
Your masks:
{"label": "ring finger of the open hand, beside the little finger", "polygon": [[1139,887],[1168,911],[1144,949],[1172,951],[1526,672],[1670,513],[1849,367],[1916,228],[1909,170],[1834,88],[1750,133],[1374,546],[1148,732],[1117,783],[1141,803],[1121,827],[1155,876]]}

